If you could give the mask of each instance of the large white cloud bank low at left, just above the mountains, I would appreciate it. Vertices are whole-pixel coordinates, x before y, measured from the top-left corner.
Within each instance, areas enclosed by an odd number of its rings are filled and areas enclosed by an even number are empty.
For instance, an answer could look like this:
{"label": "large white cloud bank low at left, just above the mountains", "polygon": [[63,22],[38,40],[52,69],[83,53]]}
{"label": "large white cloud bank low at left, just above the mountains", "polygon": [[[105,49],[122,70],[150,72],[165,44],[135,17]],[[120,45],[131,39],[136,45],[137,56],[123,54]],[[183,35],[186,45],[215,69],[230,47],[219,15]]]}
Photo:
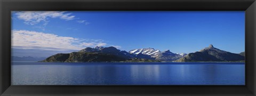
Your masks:
{"label": "large white cloud bank low at left, just above the mountains", "polygon": [[17,49],[81,50],[85,47],[106,46],[102,40],[80,39],[37,31],[12,30],[12,47]]}

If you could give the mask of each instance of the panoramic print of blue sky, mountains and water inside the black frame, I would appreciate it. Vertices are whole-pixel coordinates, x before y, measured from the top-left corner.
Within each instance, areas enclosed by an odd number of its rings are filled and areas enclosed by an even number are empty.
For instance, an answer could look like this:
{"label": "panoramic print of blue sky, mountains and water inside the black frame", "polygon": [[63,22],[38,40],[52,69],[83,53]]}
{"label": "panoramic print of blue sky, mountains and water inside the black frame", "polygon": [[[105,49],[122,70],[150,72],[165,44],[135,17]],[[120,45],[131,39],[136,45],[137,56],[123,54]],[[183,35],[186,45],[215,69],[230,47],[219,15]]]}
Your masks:
{"label": "panoramic print of blue sky, mountains and water inside the black frame", "polygon": [[12,85],[245,85],[244,11],[12,11]]}

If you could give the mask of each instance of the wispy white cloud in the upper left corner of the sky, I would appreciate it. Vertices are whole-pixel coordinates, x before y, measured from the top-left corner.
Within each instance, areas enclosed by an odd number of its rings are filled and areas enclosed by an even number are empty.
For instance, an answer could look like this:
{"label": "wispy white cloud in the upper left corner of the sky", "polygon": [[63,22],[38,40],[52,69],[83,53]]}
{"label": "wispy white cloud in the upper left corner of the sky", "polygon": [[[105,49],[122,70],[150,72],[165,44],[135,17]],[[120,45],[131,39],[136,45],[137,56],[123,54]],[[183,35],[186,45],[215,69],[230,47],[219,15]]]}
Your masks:
{"label": "wispy white cloud in the upper left corner of the sky", "polygon": [[15,13],[18,19],[24,20],[28,25],[35,25],[39,22],[44,22],[47,25],[49,18],[60,18],[63,20],[73,20],[75,18],[71,13],[63,11],[20,11]]}

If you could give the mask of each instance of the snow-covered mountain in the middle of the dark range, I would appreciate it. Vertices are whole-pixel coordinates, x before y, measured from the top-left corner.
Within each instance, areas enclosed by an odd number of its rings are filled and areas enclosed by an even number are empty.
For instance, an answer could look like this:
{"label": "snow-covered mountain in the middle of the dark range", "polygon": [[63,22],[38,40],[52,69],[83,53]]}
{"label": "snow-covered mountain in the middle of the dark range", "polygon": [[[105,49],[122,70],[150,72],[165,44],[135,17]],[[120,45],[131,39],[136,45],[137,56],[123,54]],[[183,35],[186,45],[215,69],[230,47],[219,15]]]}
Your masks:
{"label": "snow-covered mountain in the middle of the dark range", "polygon": [[139,54],[139,53],[142,53],[142,54],[147,54],[147,55],[150,55],[151,57],[157,57],[157,55],[159,53],[161,53],[161,51],[159,50],[155,50],[153,48],[146,48],[146,49],[134,49],[134,50],[131,50],[129,51],[129,53],[131,54]]}

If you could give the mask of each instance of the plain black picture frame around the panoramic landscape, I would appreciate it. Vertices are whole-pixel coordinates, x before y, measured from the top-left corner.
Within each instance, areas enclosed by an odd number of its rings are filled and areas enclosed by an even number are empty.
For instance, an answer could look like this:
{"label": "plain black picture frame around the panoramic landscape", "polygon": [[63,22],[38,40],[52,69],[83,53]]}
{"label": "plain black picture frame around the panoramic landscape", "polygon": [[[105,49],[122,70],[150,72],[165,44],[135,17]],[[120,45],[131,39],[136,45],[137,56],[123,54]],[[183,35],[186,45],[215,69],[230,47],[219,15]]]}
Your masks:
{"label": "plain black picture frame around the panoramic landscape", "polygon": [[[0,0],[0,95],[243,95],[256,94],[254,0]],[[245,11],[245,85],[11,85],[11,11]]]}

